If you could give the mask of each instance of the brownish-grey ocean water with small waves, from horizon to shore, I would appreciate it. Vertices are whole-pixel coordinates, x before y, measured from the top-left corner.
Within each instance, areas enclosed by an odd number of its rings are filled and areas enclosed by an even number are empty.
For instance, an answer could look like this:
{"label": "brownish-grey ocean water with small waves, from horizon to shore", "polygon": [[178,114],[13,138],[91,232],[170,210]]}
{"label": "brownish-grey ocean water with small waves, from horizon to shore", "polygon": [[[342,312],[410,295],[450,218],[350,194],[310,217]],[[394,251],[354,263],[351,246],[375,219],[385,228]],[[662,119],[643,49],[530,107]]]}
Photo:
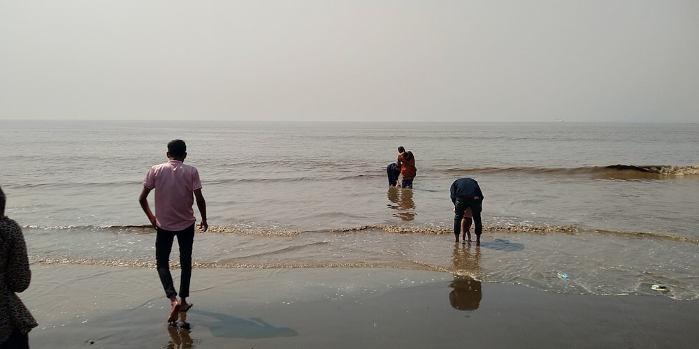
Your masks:
{"label": "brownish-grey ocean water with small waves, from horizon to shore", "polygon": [[[154,267],[137,199],[175,138],[207,202],[196,268],[420,269],[699,297],[699,124],[0,120],[6,214],[31,262]],[[388,187],[401,145],[417,159],[412,190]],[[453,242],[459,177],[484,192],[481,246]]]}

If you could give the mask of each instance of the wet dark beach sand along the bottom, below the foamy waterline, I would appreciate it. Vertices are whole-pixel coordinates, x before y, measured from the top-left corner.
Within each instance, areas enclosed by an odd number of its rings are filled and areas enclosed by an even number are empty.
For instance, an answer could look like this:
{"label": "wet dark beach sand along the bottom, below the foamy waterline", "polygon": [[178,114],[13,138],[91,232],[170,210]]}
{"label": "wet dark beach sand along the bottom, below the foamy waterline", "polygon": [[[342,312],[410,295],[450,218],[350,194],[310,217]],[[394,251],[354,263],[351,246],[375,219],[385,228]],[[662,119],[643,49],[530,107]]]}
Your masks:
{"label": "wet dark beach sand along the bottom, below the foamy waterline", "polygon": [[179,329],[166,323],[154,269],[35,264],[32,272],[20,294],[39,322],[31,348],[699,345],[699,302],[661,293],[561,295],[405,269],[194,269],[191,329]]}

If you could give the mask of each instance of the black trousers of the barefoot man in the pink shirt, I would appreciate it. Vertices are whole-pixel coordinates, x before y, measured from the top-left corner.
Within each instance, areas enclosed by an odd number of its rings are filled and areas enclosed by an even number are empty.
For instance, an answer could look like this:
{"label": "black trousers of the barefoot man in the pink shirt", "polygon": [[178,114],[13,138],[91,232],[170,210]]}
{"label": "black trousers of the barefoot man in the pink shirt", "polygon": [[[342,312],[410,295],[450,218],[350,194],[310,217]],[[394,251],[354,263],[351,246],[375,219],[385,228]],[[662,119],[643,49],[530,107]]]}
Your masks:
{"label": "black trousers of the barefoot man in the pink shirt", "polygon": [[192,245],[194,244],[194,224],[185,230],[171,232],[158,228],[155,237],[155,263],[160,282],[163,283],[165,295],[176,296],[173,276],[170,274],[170,252],[177,237],[180,246],[180,297],[189,297],[189,280],[192,279]]}

